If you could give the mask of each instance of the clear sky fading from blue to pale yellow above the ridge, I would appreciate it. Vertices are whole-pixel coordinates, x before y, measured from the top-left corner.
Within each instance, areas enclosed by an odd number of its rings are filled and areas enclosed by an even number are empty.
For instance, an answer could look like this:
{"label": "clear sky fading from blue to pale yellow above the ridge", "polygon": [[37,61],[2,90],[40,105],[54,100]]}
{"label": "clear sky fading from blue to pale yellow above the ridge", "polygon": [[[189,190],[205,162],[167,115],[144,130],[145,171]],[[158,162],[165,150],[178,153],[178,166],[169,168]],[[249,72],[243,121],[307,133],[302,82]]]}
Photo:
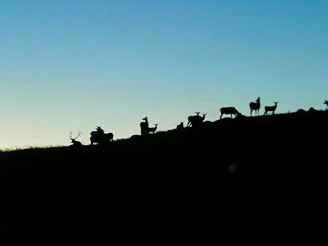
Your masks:
{"label": "clear sky fading from blue to pale yellow above the ridge", "polygon": [[0,1],[0,149],[324,109],[328,1]]}

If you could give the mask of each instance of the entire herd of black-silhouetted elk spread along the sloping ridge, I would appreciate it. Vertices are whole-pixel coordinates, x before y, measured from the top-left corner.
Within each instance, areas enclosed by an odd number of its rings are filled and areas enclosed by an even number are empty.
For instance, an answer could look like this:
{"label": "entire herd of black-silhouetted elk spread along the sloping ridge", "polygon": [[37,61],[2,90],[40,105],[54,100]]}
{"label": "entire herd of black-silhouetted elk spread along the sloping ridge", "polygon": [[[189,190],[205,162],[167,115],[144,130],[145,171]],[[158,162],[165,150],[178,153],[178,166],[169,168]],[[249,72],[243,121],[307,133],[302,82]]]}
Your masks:
{"label": "entire herd of black-silhouetted elk spread along the sloping ridge", "polygon": [[[325,104],[328,107],[328,100],[325,100],[323,104]],[[277,109],[277,105],[278,105],[278,101],[275,101],[273,106],[265,106],[264,107],[264,115],[267,115],[268,112],[272,112],[272,114],[274,114]],[[250,103],[251,116],[253,116],[253,111],[255,111],[255,116],[258,116],[260,108],[261,108],[260,97],[258,97],[255,100],[255,102],[252,101]],[[328,109],[326,109],[326,111],[328,111]],[[195,113],[196,113],[196,115],[188,116],[187,128],[189,128],[189,127],[196,128],[199,125],[201,125],[202,122],[204,121],[206,113],[202,114],[202,116],[199,115],[200,112],[195,112]],[[231,118],[232,118],[232,115],[234,115],[235,118],[245,117],[235,107],[222,107],[222,108],[220,108],[220,113],[221,113],[220,119],[222,118],[222,116],[224,114],[230,115]],[[146,116],[142,120],[144,120],[144,121],[140,122],[141,135],[147,135],[150,133],[154,134],[157,130],[158,123],[154,124],[155,127],[149,127],[148,117]],[[180,124],[177,125],[176,130],[182,130],[182,129],[184,129],[183,122],[180,121]],[[75,147],[82,146],[81,142],[76,140],[76,138],[78,138],[82,134],[82,132],[78,132],[78,135],[75,138],[72,137],[72,133],[73,132],[70,133],[71,143],[73,144],[72,146],[75,146]],[[91,135],[90,136],[91,145],[93,145],[93,144],[106,145],[106,144],[109,144],[109,142],[111,142],[114,138],[113,133],[111,133],[111,132],[105,133],[104,130],[98,126],[95,129],[95,131],[92,131],[90,133],[90,135]]]}

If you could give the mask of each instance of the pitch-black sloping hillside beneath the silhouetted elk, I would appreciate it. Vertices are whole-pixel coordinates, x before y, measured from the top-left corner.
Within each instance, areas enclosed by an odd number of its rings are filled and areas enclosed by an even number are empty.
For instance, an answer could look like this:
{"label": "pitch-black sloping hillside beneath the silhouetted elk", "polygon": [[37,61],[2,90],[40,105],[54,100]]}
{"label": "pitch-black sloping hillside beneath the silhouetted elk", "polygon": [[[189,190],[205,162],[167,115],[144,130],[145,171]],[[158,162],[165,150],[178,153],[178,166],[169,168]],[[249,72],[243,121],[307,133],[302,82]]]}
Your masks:
{"label": "pitch-black sloping hillside beneath the silhouetted elk", "polygon": [[326,112],[291,113],[205,122],[108,147],[0,153],[0,240],[325,238],[327,126]]}

